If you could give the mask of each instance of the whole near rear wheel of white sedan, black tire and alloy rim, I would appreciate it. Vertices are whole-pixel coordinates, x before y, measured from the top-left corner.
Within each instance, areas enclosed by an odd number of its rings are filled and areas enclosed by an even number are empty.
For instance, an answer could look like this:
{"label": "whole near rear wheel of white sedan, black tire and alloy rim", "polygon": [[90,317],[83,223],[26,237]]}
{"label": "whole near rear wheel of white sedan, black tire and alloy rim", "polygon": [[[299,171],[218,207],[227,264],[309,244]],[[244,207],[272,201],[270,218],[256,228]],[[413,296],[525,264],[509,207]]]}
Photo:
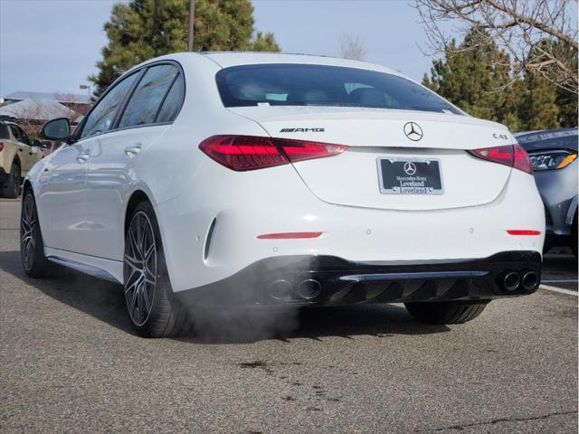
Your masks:
{"label": "whole near rear wheel of white sedan, black tire and alloy rim", "polygon": [[[157,217],[151,204],[139,203],[128,222],[123,259],[128,316],[138,335],[178,335],[189,323],[187,310],[173,294]],[[152,252],[149,251],[151,241]]]}

